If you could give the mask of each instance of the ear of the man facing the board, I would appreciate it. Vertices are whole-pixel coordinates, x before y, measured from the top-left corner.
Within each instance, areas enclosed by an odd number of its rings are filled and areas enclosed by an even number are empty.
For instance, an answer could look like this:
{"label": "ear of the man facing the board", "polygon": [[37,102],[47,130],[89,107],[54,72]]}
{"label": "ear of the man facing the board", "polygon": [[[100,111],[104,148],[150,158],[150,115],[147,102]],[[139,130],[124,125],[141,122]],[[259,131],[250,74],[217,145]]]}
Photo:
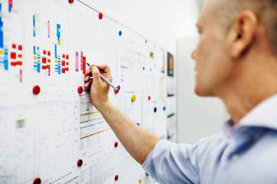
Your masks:
{"label": "ear of the man facing the board", "polygon": [[243,11],[233,23],[230,32],[230,49],[234,58],[242,56],[255,37],[255,29],[258,25],[258,17],[252,11]]}

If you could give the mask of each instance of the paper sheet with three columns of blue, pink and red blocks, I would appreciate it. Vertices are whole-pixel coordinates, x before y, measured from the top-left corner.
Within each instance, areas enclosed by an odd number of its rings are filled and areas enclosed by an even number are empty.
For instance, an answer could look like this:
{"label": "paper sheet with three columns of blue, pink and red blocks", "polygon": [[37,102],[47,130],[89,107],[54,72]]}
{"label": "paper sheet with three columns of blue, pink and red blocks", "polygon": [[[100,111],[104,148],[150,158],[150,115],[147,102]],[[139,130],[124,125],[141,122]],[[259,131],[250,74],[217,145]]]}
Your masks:
{"label": "paper sheet with three columns of blue, pink and red blocks", "polygon": [[69,6],[63,0],[26,0],[26,75],[31,85],[69,85]]}

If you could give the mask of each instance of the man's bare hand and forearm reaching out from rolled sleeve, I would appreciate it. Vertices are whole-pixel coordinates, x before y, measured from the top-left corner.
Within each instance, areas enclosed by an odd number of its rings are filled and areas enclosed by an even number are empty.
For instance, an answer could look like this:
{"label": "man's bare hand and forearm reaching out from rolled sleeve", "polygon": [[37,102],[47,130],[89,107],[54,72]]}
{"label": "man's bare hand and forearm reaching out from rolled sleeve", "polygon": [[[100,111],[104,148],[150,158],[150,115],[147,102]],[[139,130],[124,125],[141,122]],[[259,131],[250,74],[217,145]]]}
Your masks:
{"label": "man's bare hand and forearm reaching out from rolled sleeve", "polygon": [[[160,138],[133,123],[109,103],[110,86],[100,79],[99,70],[106,79],[112,81],[111,69],[108,65],[93,65],[92,70],[87,70],[84,87],[91,87],[92,105],[102,114],[127,152],[137,162],[143,164]],[[90,80],[91,75],[93,79]]]}

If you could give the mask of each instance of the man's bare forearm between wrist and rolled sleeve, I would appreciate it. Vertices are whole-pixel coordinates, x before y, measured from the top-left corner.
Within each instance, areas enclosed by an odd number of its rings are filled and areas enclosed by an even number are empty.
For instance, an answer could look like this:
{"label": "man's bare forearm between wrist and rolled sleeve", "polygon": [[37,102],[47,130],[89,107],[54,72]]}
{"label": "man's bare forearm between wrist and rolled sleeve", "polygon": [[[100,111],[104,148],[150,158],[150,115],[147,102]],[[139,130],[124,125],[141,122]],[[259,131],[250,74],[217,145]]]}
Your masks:
{"label": "man's bare forearm between wrist and rolled sleeve", "polygon": [[137,162],[143,164],[160,138],[133,123],[110,103],[97,105],[97,109],[115,132],[127,152]]}

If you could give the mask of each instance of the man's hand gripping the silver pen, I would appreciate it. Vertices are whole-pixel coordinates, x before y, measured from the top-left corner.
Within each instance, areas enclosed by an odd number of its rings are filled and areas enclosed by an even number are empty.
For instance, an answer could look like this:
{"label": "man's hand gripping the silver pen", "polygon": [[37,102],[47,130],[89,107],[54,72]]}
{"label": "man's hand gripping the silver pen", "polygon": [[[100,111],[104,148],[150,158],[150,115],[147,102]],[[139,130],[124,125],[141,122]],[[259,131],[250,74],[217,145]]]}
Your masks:
{"label": "man's hand gripping the silver pen", "polygon": [[[100,73],[112,82],[111,68],[107,64],[92,65],[92,70],[89,69],[85,73],[84,87],[91,87],[91,102],[97,109],[101,104],[109,102],[108,96],[110,86],[100,78]],[[93,79],[90,79],[91,76],[93,76]]]}

